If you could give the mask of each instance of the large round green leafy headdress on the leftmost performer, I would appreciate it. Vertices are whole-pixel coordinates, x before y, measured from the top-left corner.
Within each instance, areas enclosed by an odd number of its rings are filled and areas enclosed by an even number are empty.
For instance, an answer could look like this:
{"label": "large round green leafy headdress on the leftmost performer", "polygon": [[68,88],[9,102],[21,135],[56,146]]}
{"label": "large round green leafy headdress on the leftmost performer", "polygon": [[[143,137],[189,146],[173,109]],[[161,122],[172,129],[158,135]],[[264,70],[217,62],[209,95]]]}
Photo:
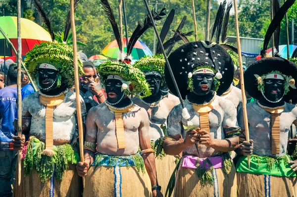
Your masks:
{"label": "large round green leafy headdress on the leftmost performer", "polygon": [[[25,65],[32,75],[38,80],[38,68],[41,63],[49,63],[59,71],[59,83],[64,83],[68,88],[74,86],[73,49],[57,42],[44,42],[35,46],[26,54]],[[78,58],[78,74],[83,75],[83,63]]]}

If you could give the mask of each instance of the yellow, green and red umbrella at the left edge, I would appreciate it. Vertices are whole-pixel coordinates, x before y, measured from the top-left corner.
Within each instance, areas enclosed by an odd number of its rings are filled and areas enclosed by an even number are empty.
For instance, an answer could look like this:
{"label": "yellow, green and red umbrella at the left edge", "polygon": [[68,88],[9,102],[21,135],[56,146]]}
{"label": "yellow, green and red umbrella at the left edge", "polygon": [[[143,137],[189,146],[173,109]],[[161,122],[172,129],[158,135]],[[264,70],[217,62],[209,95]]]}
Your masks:
{"label": "yellow, green and red umbrella at the left edge", "polygon": [[[17,49],[17,17],[0,16],[0,27],[6,33],[6,36]],[[22,55],[29,52],[36,44],[39,45],[43,41],[51,41],[49,33],[31,20],[21,18],[21,36],[22,36]],[[0,34],[0,55],[15,56],[11,46],[4,45],[4,36]]]}

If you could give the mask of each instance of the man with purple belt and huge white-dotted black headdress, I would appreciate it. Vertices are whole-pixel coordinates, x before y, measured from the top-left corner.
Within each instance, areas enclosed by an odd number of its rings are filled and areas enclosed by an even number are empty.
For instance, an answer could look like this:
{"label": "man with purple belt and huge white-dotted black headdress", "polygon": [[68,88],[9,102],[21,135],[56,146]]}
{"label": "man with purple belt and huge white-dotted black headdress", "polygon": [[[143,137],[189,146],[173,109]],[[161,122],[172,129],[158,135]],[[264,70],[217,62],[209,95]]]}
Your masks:
{"label": "man with purple belt and huge white-dotted black headdress", "polygon": [[[169,58],[185,108],[169,113],[165,153],[183,152],[174,197],[236,196],[235,167],[229,155],[238,146],[236,109],[230,100],[216,96],[231,84],[234,65],[225,49],[208,41],[185,44]],[[165,80],[177,95],[168,68]]]}

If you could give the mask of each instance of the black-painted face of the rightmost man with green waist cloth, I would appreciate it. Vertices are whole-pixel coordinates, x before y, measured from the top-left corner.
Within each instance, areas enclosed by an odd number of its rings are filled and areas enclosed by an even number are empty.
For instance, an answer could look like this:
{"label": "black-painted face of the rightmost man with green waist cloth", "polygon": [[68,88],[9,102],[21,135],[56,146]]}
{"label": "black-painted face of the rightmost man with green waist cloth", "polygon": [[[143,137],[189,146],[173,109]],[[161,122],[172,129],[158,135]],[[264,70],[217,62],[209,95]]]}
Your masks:
{"label": "black-painted face of the rightmost man with green waist cloth", "polygon": [[284,95],[284,80],[265,79],[264,96],[271,101],[277,101]]}

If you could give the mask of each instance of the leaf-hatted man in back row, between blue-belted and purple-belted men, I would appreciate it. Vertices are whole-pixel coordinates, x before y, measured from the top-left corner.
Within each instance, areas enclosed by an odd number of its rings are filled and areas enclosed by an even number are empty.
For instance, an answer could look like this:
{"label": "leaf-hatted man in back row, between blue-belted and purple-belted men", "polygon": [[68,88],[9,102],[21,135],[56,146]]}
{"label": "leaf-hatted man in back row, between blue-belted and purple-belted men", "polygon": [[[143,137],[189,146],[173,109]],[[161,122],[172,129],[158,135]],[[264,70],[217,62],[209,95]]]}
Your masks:
{"label": "leaf-hatted man in back row, between blue-belted and purple-belted men", "polygon": [[[151,147],[156,154],[156,171],[158,183],[165,194],[172,172],[176,167],[176,157],[166,155],[162,150],[162,143],[166,138],[167,117],[171,109],[180,103],[179,99],[170,93],[163,94],[161,88],[166,86],[164,79],[165,59],[163,55],[143,57],[133,66],[139,68],[146,76],[151,95],[143,99],[133,98],[133,102],[143,107],[149,117],[149,137]],[[164,130],[163,130],[164,129]],[[164,134],[165,131],[165,134]]]}

